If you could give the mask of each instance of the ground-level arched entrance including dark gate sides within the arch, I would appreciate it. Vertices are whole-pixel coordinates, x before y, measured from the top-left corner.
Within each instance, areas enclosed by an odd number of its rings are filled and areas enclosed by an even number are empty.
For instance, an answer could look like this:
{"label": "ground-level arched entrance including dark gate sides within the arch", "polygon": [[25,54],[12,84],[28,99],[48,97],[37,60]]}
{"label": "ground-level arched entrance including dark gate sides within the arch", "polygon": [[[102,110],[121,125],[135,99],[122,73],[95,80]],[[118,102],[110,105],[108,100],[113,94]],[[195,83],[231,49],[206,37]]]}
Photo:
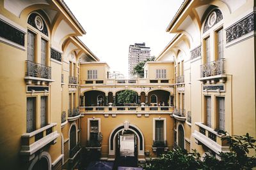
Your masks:
{"label": "ground-level arched entrance including dark gate sides within the arch", "polygon": [[120,136],[122,137],[122,132],[124,135],[124,131],[127,131],[127,134],[131,134],[131,136],[134,136],[134,156],[144,155],[145,141],[143,134],[136,125],[129,124],[129,122],[125,122],[124,124],[119,125],[111,132],[109,136],[109,155],[116,156],[116,148],[120,148],[120,146],[116,145],[118,145],[118,142],[120,142]]}

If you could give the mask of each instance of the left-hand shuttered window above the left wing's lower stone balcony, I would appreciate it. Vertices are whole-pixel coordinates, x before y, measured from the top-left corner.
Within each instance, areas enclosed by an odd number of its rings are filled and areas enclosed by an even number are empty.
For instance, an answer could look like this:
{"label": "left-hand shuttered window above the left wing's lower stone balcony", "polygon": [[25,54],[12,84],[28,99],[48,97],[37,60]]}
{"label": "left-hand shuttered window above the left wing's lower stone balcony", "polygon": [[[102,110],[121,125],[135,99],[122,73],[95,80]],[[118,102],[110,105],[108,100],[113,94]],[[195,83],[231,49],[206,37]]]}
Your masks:
{"label": "left-hand shuttered window above the left wing's lower stone balcony", "polygon": [[27,98],[27,132],[28,133],[36,130],[35,101],[36,101],[36,97]]}

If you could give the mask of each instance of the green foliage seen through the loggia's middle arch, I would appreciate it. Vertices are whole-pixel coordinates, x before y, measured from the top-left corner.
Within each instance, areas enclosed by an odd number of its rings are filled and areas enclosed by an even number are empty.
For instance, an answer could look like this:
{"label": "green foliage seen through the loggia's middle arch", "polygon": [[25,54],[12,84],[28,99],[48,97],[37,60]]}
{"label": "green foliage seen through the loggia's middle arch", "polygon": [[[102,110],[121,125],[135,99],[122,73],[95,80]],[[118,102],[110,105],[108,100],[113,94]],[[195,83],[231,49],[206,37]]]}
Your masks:
{"label": "green foliage seen through the loggia's middle arch", "polygon": [[117,102],[121,103],[136,103],[136,92],[132,90],[123,90],[117,94]]}

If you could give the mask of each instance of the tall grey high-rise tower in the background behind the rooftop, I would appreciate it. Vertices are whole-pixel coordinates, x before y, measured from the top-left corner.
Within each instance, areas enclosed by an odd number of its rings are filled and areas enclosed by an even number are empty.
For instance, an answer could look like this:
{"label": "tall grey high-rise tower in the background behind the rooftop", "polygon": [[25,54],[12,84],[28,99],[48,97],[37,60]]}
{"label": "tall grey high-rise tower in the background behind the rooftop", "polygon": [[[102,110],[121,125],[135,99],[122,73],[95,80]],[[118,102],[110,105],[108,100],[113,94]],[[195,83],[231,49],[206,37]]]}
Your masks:
{"label": "tall grey high-rise tower in the background behind the rooftop", "polygon": [[135,43],[129,46],[129,76],[132,74],[134,66],[143,60],[150,58],[150,47],[145,43]]}

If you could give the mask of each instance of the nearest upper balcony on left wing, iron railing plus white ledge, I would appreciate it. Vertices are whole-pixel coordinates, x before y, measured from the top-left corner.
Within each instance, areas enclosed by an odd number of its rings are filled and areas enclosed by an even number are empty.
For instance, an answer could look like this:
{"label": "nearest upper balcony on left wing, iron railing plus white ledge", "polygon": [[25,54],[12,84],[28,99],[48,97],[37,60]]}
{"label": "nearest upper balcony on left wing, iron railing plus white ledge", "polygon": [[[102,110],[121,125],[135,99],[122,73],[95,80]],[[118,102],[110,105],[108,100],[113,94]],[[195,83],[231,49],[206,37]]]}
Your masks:
{"label": "nearest upper balcony on left wing, iron railing plus white ledge", "polygon": [[44,64],[38,64],[30,60],[26,60],[26,75],[25,80],[27,84],[31,84],[35,81],[36,84],[45,82],[52,82],[51,80],[51,67],[45,66]]}

